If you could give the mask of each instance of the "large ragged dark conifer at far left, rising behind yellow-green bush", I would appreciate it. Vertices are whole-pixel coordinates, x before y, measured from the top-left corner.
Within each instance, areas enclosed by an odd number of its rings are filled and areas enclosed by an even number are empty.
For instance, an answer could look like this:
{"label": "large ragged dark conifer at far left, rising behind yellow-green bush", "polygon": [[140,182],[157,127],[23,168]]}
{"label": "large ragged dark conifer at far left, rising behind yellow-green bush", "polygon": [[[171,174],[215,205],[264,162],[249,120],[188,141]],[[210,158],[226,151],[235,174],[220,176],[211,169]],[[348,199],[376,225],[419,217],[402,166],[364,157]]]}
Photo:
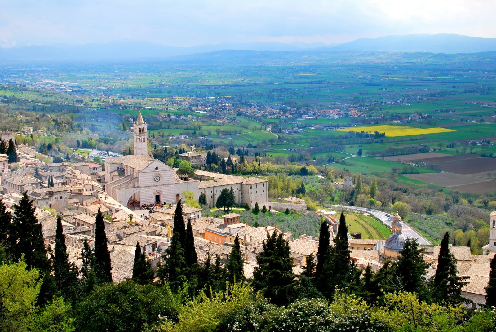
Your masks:
{"label": "large ragged dark conifer at far left, rising behind yellow-green bush", "polygon": [[28,269],[40,270],[43,283],[37,301],[38,305],[44,305],[54,297],[56,284],[52,276],[52,262],[48,257],[41,224],[36,219],[35,210],[33,201],[28,199],[26,193],[22,194],[19,203],[14,205],[7,254],[10,254],[14,261],[24,255]]}

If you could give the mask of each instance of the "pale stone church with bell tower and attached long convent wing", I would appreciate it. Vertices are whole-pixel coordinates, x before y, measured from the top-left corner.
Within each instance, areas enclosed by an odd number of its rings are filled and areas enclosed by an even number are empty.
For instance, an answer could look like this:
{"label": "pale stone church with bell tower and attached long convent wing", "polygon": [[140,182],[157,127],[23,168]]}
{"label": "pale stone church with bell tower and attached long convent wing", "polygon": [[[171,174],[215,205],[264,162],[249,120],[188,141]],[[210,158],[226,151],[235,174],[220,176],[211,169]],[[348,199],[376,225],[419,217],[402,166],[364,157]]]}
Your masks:
{"label": "pale stone church with bell tower and attached long convent wing", "polygon": [[205,171],[196,171],[195,179],[180,180],[175,169],[148,154],[147,128],[141,112],[133,123],[133,136],[134,155],[105,159],[105,192],[122,205],[172,203],[184,199],[183,192],[190,191],[195,199],[204,193],[213,207],[222,189],[233,188],[237,204],[248,203],[252,208],[258,202],[260,208],[272,208],[267,180]]}

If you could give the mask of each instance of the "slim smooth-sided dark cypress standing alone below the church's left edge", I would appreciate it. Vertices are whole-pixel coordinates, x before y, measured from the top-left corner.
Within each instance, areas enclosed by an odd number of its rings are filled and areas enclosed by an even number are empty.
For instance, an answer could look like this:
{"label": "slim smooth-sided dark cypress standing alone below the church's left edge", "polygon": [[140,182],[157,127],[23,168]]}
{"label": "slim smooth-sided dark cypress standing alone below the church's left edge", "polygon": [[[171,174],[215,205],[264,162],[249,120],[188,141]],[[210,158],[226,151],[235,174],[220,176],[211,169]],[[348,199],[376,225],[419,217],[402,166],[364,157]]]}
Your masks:
{"label": "slim smooth-sided dark cypress standing alone below the church's left edge", "polygon": [[95,249],[93,253],[95,255],[95,274],[98,282],[112,282],[110,252],[107,247],[107,235],[105,234],[105,224],[100,208],[98,208],[95,220]]}

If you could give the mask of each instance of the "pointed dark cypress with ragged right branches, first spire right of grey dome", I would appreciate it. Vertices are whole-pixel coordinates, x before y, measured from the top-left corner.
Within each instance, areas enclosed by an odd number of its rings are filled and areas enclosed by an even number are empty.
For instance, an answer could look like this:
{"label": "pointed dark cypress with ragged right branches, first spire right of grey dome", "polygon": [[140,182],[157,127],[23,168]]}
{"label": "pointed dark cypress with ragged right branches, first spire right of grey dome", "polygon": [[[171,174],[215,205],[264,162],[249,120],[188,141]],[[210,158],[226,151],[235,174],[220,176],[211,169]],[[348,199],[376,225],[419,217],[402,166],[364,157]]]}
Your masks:
{"label": "pointed dark cypress with ragged right branches, first spire right of grey dome", "polygon": [[437,258],[437,269],[433,280],[434,300],[452,304],[462,301],[461,288],[466,284],[466,277],[459,277],[456,268],[456,259],[449,252],[449,232],[444,234]]}

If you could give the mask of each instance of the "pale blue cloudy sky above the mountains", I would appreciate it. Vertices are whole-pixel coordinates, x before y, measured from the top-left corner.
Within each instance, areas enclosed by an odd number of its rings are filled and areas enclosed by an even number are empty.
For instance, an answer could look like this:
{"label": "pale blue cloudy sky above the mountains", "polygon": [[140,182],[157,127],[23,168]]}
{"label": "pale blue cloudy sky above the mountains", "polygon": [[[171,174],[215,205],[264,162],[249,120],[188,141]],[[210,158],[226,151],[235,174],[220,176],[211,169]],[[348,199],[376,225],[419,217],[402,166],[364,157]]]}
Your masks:
{"label": "pale blue cloudy sky above the mountains", "polygon": [[495,0],[0,0],[0,47],[149,41],[344,43],[456,33],[496,38]]}

